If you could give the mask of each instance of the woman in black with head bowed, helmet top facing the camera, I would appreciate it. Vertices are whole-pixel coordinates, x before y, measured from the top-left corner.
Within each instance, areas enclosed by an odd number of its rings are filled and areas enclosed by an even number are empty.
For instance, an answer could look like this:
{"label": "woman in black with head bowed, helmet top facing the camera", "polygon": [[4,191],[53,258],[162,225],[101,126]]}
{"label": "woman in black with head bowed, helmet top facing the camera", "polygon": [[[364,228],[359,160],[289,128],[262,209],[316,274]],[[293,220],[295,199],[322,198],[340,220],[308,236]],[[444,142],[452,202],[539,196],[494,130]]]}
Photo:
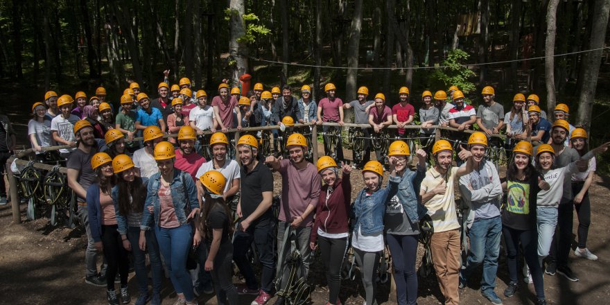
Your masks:
{"label": "woman in black with head bowed, helmet top facing the camera", "polygon": [[233,236],[231,212],[223,198],[227,179],[219,171],[207,171],[199,178],[204,189],[197,238],[207,243],[206,271],[210,272],[218,304],[237,305],[237,288],[233,284]]}

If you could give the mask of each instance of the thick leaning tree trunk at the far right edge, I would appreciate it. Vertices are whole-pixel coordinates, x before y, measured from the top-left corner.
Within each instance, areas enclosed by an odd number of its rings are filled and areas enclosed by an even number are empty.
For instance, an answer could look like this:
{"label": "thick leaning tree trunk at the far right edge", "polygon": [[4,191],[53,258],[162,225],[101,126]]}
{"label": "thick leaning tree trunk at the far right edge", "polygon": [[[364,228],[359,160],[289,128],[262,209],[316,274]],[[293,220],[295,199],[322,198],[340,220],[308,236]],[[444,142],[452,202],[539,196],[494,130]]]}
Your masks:
{"label": "thick leaning tree trunk at the far right edge", "polygon": [[[608,28],[610,0],[595,0],[595,8],[589,9],[594,9],[589,49],[600,49],[604,46]],[[591,127],[591,114],[593,112],[593,101],[595,100],[595,88],[598,85],[602,53],[603,50],[591,51],[584,53],[582,58],[580,77],[583,82],[578,98],[579,107],[576,121],[580,125],[584,125],[586,129]]]}

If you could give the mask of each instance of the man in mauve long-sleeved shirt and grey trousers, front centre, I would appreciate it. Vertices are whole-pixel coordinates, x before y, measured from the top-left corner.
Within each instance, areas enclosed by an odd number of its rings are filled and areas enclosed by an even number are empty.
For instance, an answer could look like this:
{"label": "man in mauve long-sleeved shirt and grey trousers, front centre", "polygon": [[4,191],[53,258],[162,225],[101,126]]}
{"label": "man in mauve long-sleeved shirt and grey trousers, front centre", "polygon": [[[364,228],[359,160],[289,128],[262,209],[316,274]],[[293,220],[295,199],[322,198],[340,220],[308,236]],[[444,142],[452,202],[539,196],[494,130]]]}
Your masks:
{"label": "man in mauve long-sleeved shirt and grey trousers, front centre", "polygon": [[[318,109],[320,108],[318,107]],[[284,271],[284,274],[276,275],[276,278],[281,277],[279,279],[280,287],[284,287],[289,277],[286,259],[290,256],[292,250],[290,249],[290,243],[287,242],[284,245],[284,234],[290,234],[291,230],[295,232],[295,245],[301,253],[303,261],[302,270],[304,274],[299,275],[299,277],[307,279],[311,258],[309,237],[313,225],[313,211],[317,205],[320,185],[322,184],[322,178],[317,174],[316,167],[305,159],[308,148],[307,141],[302,134],[290,134],[288,141],[286,141],[286,149],[290,159],[282,160],[274,156],[265,159],[265,163],[270,164],[275,171],[281,174],[282,182],[277,229],[278,256],[281,261],[277,272]],[[286,300],[285,297],[285,295],[279,295],[275,305],[283,305]]]}

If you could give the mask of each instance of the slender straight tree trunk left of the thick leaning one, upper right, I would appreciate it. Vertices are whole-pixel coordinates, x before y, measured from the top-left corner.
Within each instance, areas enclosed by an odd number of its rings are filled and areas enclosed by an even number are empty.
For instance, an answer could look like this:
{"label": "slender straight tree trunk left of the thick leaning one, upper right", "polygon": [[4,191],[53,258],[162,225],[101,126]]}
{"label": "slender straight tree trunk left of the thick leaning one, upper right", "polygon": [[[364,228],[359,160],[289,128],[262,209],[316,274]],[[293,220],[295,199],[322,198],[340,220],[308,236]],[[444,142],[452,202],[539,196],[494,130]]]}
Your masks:
{"label": "slender straight tree trunk left of the thick leaning one, upper right", "polygon": [[546,15],[546,42],[544,44],[544,77],[546,80],[546,109],[555,110],[555,34],[557,32],[557,5],[559,0],[548,1]]}

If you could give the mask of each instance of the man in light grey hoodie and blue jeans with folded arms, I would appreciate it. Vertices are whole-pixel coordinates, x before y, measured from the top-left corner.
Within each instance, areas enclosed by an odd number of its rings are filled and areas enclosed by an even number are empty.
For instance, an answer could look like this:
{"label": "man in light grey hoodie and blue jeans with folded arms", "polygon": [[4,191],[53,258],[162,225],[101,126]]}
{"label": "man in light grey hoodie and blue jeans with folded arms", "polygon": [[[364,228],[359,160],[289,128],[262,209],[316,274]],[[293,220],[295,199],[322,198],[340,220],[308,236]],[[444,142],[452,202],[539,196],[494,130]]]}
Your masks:
{"label": "man in light grey hoodie and blue jeans with folded arms", "polygon": [[474,132],[468,139],[469,150],[460,152],[460,158],[472,156],[473,171],[460,177],[462,198],[470,207],[469,214],[464,215],[468,217],[470,252],[464,263],[465,268],[460,272],[459,288],[468,286],[469,277],[482,263],[481,294],[492,304],[502,304],[494,292],[502,234],[498,199],[498,195],[502,194],[502,184],[496,166],[485,159],[487,146],[487,136]]}

